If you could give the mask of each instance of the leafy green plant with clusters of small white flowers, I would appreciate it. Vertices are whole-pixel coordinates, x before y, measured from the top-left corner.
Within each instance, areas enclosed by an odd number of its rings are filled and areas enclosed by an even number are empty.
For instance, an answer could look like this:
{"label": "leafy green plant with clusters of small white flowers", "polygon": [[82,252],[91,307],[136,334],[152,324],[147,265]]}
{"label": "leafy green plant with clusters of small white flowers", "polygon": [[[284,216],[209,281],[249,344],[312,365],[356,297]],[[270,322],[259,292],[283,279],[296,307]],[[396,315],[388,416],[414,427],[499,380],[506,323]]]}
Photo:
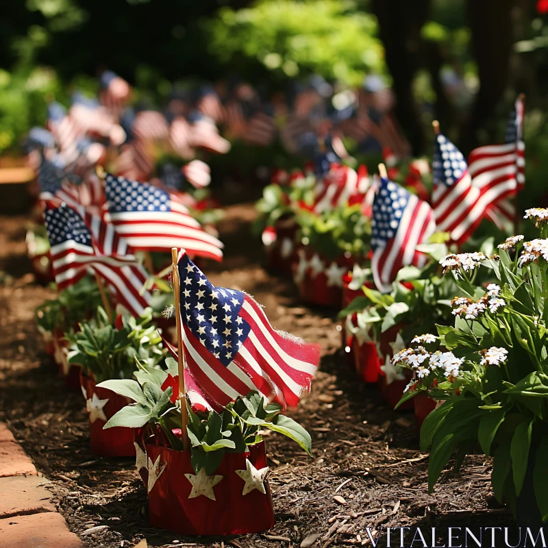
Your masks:
{"label": "leafy green plant with clusters of small white flowers", "polygon": [[[444,402],[421,429],[421,450],[430,448],[429,490],[455,451],[459,469],[479,445],[493,456],[497,500],[521,525],[534,526],[548,521],[548,210],[527,210],[526,217],[540,238],[512,236],[491,257],[442,260],[464,295],[453,299],[454,325],[439,325],[437,337],[424,335],[393,362],[418,377],[402,402],[421,393]],[[497,284],[479,286],[482,269]]]}

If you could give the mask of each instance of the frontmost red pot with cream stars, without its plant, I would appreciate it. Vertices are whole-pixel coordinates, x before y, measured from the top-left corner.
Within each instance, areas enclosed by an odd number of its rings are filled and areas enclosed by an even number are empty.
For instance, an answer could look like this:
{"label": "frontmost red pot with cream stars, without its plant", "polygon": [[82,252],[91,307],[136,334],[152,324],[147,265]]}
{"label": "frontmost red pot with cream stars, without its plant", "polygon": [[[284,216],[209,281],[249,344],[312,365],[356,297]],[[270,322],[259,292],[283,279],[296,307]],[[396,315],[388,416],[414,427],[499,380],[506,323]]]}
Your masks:
{"label": "frontmost red pot with cream stars, without its plant", "polygon": [[190,451],[150,443],[145,449],[149,520],[154,527],[183,535],[247,534],[273,527],[268,482],[262,484],[265,493],[253,488],[244,495],[248,484],[236,473],[247,471],[247,460],[256,470],[266,468],[264,442],[251,445],[249,453],[225,453],[219,468],[209,477],[210,484],[202,490],[195,488],[199,476],[190,464]]}

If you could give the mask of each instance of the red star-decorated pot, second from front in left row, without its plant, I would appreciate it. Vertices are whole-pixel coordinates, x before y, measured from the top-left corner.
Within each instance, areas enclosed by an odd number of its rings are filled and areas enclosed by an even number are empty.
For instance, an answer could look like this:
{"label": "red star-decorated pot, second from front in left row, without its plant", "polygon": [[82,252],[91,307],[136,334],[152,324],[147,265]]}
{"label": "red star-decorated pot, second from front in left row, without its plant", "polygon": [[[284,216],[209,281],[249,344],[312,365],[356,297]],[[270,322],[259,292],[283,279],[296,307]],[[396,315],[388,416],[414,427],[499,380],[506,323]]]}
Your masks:
{"label": "red star-decorated pot, second from front in left row, without its plant", "polygon": [[90,446],[101,457],[134,457],[134,429],[116,426],[103,430],[114,414],[127,406],[129,400],[108,388],[99,388],[95,380],[81,373],[80,384],[89,414]]}

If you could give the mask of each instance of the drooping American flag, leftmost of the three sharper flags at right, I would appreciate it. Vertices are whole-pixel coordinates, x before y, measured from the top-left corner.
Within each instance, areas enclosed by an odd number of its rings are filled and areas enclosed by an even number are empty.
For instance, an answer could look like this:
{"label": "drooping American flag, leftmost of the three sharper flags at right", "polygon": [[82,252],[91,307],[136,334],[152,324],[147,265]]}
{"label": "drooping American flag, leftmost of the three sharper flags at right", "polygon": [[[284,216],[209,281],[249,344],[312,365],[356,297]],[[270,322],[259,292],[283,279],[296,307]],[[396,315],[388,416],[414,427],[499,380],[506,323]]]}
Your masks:
{"label": "drooping American flag, leftmost of the three sharper flags at right", "polygon": [[416,246],[436,232],[434,212],[425,201],[381,177],[371,225],[373,280],[379,291],[388,292],[403,266],[424,266],[425,256]]}

